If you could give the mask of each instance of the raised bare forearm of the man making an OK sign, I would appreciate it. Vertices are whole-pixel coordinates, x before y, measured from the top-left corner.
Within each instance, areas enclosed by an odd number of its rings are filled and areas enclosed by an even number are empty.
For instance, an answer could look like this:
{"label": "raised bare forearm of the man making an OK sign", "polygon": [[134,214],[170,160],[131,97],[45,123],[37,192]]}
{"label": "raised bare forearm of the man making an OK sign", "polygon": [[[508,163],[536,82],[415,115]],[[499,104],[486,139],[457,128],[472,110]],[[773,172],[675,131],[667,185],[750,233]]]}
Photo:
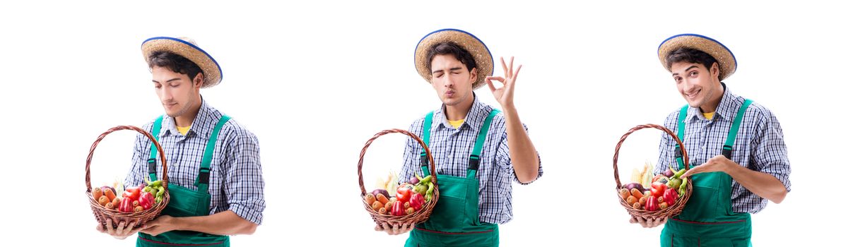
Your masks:
{"label": "raised bare forearm of the man making an OK sign", "polygon": [[521,124],[518,112],[514,107],[503,109],[507,121],[507,142],[509,158],[512,159],[515,175],[522,183],[536,180],[539,174],[539,156],[530,136],[527,136],[525,126]]}

